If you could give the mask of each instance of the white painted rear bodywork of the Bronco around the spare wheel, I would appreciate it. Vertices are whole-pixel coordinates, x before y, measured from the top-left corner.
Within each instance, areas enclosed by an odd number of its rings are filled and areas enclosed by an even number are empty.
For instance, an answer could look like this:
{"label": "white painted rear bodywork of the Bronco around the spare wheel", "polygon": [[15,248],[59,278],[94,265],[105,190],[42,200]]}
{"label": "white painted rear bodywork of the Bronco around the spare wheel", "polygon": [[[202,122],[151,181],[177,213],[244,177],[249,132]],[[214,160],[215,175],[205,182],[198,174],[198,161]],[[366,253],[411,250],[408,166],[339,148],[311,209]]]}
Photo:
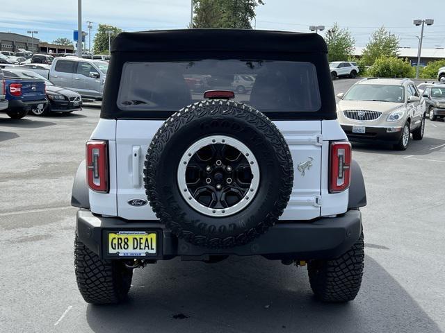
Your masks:
{"label": "white painted rear bodywork of the Bronco around the spare wheel", "polygon": [[[90,190],[92,212],[117,215],[128,220],[155,220],[149,205],[132,206],[131,199],[146,199],[143,185],[145,153],[163,121],[101,119],[92,139],[108,139],[110,155],[110,193]],[[333,121],[275,121],[289,145],[294,169],[293,190],[280,219],[311,220],[346,212],[348,191],[329,194],[329,140],[346,135]],[[298,168],[310,161],[311,166]],[[175,175],[172,175],[175,176]]]}

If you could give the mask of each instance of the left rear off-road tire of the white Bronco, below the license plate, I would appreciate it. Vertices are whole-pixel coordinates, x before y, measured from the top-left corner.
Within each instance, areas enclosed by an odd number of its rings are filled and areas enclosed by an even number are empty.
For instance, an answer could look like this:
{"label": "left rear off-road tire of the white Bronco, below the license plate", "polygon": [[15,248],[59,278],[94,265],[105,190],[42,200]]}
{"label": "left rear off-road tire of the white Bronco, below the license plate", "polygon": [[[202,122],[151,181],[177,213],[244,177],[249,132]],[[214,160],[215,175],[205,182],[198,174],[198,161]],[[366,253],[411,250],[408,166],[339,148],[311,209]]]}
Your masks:
{"label": "left rear off-road tire of the white Bronco, below the license plate", "polygon": [[117,304],[127,297],[133,270],[122,260],[102,260],[74,239],[74,269],[77,287],[83,299],[91,304]]}

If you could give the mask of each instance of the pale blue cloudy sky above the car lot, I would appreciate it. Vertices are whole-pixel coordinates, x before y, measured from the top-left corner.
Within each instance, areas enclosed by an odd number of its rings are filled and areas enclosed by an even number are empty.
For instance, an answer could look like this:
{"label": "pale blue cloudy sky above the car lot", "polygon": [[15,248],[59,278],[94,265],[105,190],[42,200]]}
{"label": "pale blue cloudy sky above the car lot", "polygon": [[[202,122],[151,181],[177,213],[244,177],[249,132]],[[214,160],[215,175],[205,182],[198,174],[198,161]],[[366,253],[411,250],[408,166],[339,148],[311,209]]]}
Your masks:
{"label": "pale blue cloudy sky above the car lot", "polygon": [[[11,1],[5,1],[11,5]],[[257,29],[309,31],[311,25],[327,28],[337,22],[349,28],[356,46],[366,46],[369,36],[385,26],[401,37],[401,46],[416,48],[420,27],[413,19],[435,19],[426,26],[423,47],[445,47],[445,0],[264,0],[257,8]],[[52,42],[58,37],[72,39],[77,29],[76,0],[20,0],[19,6],[0,6],[0,31],[38,37]],[[92,24],[91,42],[97,24],[111,24],[124,31],[186,28],[190,22],[191,0],[83,0],[83,30]],[[254,26],[254,22],[252,22]],[[322,32],[323,34],[324,32]],[[88,43],[88,37],[87,37]],[[88,44],[87,44],[88,47]]]}

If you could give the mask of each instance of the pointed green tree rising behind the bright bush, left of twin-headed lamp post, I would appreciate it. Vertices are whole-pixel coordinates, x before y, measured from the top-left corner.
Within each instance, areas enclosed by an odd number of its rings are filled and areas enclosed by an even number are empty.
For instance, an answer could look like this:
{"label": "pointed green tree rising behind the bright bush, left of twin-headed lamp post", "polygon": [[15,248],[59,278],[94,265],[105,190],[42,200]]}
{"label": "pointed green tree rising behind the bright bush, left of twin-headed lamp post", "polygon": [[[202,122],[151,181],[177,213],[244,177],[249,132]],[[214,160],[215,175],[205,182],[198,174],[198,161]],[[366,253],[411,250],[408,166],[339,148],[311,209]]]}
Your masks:
{"label": "pointed green tree rising behind the bright bush, left of twin-headed lamp post", "polygon": [[384,57],[396,57],[398,55],[400,38],[387,31],[382,26],[374,31],[363,50],[362,58],[366,66],[372,66],[376,59]]}

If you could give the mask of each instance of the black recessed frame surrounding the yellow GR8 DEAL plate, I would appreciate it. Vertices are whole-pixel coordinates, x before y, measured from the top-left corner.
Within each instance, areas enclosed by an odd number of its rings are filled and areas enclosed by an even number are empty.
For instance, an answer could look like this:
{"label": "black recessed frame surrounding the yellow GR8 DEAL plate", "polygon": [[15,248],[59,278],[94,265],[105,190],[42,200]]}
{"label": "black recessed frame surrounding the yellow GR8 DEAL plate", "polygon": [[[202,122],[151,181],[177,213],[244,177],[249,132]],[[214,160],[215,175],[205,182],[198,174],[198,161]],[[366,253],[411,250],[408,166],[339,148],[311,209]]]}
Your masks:
{"label": "black recessed frame surrounding the yellow GR8 DEAL plate", "polygon": [[[128,254],[122,254],[122,253],[113,253],[110,251],[110,242],[109,242],[109,237],[110,234],[119,234],[122,233],[122,235],[127,235],[127,236],[131,236],[133,234],[140,234],[142,235],[144,232],[145,234],[149,235],[149,234],[155,234],[155,245],[154,245],[154,250],[155,253],[145,253],[144,255],[141,255],[140,253],[136,252],[131,252]],[[102,253],[103,253],[103,257],[105,259],[131,259],[131,258],[139,258],[139,259],[159,259],[161,258],[162,254],[161,254],[161,248],[162,248],[162,237],[160,237],[162,233],[159,232],[159,230],[136,230],[136,229],[132,229],[132,230],[106,230],[104,232],[104,234],[102,235]]]}

